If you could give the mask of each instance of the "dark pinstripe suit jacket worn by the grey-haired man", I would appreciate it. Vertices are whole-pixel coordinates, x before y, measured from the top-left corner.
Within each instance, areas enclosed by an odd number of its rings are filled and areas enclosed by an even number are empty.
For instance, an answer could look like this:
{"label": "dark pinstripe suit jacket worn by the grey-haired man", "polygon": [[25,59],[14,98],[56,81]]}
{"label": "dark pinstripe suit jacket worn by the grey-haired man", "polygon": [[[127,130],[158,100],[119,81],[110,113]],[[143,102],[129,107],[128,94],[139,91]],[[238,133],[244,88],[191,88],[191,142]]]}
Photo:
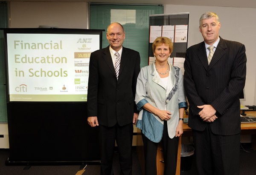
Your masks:
{"label": "dark pinstripe suit jacket worn by the grey-haired man", "polygon": [[189,127],[203,131],[207,122],[198,115],[197,106],[211,104],[217,119],[210,123],[218,135],[241,131],[239,94],[246,77],[245,46],[220,37],[208,66],[204,42],[189,47],[184,63],[184,87],[189,100]]}

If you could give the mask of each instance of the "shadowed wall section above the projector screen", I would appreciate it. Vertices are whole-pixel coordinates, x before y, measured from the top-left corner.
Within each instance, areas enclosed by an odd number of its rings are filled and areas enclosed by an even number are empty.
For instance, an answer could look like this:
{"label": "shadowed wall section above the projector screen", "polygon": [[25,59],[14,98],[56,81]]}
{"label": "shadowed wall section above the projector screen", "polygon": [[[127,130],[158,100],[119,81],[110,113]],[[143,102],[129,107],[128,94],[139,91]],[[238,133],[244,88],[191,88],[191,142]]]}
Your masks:
{"label": "shadowed wall section above the projector screen", "polygon": [[87,29],[87,3],[10,2],[9,28]]}

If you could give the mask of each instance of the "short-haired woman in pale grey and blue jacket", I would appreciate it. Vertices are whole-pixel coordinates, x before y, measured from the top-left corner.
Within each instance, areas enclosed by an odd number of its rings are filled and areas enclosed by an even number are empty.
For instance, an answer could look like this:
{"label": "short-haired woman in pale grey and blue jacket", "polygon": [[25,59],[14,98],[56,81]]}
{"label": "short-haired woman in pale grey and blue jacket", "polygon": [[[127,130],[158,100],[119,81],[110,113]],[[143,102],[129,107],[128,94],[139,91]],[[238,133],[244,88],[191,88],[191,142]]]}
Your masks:
{"label": "short-haired woman in pale grey and blue jacket", "polygon": [[181,69],[168,57],[173,43],[157,37],[152,45],[156,60],[141,69],[137,79],[135,102],[140,111],[137,127],[142,130],[145,174],[156,175],[157,145],[163,143],[164,175],[175,175],[179,136],[187,108]]}

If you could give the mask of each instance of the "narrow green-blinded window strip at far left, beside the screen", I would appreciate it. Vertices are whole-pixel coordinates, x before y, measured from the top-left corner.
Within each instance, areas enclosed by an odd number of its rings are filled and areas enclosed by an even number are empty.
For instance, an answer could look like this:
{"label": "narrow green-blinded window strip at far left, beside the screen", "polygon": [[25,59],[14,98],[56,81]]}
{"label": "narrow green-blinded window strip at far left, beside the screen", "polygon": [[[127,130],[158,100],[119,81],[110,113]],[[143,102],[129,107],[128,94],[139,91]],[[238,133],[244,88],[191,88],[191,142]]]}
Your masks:
{"label": "narrow green-blinded window strip at far left, beside the screen", "polygon": [[[0,28],[8,28],[7,3],[0,2]],[[0,123],[7,123],[3,30],[0,30]]]}

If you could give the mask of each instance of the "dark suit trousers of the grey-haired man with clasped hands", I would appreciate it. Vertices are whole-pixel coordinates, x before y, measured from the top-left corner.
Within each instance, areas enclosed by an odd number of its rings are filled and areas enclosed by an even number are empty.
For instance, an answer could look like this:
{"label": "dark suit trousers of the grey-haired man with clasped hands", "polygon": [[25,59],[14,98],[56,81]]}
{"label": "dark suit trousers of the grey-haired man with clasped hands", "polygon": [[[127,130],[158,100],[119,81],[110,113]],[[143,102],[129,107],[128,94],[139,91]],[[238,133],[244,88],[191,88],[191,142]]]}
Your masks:
{"label": "dark suit trousers of the grey-haired man with clasped hands", "polygon": [[198,175],[239,175],[240,133],[215,135],[210,123],[193,131]]}

